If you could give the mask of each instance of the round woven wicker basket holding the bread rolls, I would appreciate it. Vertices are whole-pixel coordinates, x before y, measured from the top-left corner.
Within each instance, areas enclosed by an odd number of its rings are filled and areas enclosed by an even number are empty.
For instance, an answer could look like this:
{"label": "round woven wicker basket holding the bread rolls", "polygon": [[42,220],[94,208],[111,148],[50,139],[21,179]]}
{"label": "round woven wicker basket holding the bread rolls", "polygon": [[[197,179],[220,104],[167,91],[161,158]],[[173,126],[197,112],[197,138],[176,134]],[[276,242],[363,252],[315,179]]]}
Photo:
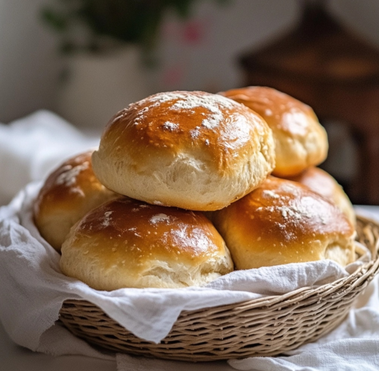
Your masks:
{"label": "round woven wicker basket holding the bread rolls", "polygon": [[338,326],[378,273],[379,225],[358,217],[357,232],[373,259],[349,277],[315,289],[184,311],[160,344],[137,338],[87,301],[65,301],[60,320],[78,337],[116,352],[192,362],[275,356]]}

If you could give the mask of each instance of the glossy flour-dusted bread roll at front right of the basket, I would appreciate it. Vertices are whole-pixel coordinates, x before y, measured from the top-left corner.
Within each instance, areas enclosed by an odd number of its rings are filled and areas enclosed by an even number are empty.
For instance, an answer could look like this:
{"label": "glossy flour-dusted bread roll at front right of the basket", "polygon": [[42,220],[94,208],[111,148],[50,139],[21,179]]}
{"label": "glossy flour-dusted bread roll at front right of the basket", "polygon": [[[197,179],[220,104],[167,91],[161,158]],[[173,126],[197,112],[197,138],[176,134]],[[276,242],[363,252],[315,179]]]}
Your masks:
{"label": "glossy flour-dusted bread roll at front right of the basket", "polygon": [[355,231],[331,202],[299,183],[269,177],[261,186],[214,212],[236,269],[332,259],[355,259]]}

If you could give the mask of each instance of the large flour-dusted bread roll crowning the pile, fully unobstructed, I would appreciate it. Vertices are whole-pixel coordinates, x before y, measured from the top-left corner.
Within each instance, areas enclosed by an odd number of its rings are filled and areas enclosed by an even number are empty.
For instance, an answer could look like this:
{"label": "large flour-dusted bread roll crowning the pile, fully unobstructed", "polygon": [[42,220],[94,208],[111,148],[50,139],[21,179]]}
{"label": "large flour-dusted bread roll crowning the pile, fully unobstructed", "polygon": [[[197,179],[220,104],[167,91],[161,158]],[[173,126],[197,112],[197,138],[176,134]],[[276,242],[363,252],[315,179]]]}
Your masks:
{"label": "large flour-dusted bread roll crowning the pile, fully unobstructed", "polygon": [[118,112],[92,157],[99,181],[148,203],[216,210],[250,192],[275,166],[272,131],[218,94],[151,95]]}

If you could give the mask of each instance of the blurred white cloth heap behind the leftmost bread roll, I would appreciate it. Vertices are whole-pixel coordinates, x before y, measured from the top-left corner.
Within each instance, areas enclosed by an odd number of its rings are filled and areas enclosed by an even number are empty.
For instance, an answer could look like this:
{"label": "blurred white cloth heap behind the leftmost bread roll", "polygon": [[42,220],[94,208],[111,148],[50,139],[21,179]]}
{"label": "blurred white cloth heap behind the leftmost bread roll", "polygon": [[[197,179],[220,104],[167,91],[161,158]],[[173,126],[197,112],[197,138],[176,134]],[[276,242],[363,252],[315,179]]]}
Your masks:
{"label": "blurred white cloth heap behind the leftmost bread roll", "polygon": [[0,205],[31,181],[43,179],[76,153],[97,147],[89,137],[56,114],[40,110],[0,124]]}

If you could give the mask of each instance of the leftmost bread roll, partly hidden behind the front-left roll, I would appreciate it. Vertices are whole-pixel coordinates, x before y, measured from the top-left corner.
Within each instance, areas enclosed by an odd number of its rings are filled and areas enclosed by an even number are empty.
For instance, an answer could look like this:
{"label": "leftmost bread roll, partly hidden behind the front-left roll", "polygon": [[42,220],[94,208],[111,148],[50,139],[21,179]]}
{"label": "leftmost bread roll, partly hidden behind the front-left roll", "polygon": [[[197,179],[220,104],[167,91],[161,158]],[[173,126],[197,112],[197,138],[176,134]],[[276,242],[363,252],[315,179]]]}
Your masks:
{"label": "leftmost bread roll, partly hidden behind the front-left roll", "polygon": [[57,251],[80,218],[117,196],[96,179],[92,152],[72,157],[59,166],[47,178],[34,203],[34,222],[41,236]]}

